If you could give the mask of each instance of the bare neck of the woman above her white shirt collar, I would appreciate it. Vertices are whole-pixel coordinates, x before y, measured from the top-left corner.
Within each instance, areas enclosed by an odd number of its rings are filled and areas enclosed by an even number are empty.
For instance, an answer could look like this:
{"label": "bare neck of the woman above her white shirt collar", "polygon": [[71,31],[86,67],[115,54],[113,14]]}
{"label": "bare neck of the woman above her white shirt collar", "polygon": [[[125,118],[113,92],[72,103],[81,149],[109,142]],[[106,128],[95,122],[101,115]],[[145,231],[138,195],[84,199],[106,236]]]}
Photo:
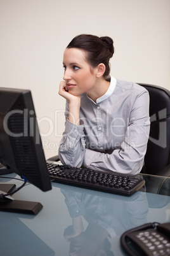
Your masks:
{"label": "bare neck of the woman above her white shirt collar", "polygon": [[93,89],[89,90],[89,92],[86,92],[86,94],[96,103],[96,99],[103,96],[107,92],[109,86],[109,81],[105,80],[104,78],[99,78],[96,81]]}

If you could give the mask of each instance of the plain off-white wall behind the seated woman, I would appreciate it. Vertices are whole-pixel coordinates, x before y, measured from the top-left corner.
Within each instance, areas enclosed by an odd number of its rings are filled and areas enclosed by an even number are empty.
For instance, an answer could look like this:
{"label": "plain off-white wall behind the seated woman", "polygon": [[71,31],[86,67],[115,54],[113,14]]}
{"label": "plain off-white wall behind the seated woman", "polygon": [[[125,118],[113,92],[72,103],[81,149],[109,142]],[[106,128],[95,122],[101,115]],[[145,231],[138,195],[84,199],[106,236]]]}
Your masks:
{"label": "plain off-white wall behind the seated woman", "polygon": [[46,158],[58,151],[65,47],[77,34],[114,39],[115,78],[170,89],[169,0],[0,0],[0,86],[30,89]]}

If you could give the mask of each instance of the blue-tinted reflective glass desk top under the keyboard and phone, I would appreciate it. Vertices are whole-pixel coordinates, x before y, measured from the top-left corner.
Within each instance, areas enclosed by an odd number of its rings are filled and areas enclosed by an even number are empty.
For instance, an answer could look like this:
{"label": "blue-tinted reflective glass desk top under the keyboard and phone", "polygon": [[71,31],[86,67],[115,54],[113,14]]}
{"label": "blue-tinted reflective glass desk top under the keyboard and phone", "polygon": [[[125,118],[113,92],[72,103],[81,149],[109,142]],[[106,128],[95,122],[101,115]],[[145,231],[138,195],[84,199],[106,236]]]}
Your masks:
{"label": "blue-tinted reflective glass desk top under the keyboard and phone", "polygon": [[[120,246],[124,231],[147,222],[170,222],[170,178],[143,177],[145,189],[131,197],[58,183],[49,192],[26,185],[13,197],[44,207],[36,216],[0,212],[1,255],[125,255]],[[6,178],[0,183],[21,185]]]}

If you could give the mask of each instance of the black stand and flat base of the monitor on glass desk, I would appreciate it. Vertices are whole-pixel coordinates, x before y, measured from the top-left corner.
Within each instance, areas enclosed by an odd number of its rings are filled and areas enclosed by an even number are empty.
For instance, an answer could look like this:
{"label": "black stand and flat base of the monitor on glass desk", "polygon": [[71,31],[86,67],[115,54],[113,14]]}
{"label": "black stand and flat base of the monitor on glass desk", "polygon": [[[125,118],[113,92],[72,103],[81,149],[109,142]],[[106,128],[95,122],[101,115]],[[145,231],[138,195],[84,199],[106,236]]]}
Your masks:
{"label": "black stand and flat base of the monitor on glass desk", "polygon": [[[0,184],[0,190],[5,194],[12,192],[14,188],[14,184]],[[11,200],[6,197],[0,199],[0,211],[36,215],[41,211],[42,207],[42,204],[39,202]]]}

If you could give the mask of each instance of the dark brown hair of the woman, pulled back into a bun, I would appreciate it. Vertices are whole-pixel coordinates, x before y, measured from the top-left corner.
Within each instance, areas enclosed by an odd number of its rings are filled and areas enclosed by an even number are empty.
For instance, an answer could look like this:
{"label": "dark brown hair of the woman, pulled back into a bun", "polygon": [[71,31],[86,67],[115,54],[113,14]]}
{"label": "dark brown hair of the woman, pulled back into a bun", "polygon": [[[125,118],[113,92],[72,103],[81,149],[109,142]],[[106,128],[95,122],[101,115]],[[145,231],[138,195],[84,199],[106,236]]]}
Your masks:
{"label": "dark brown hair of the woman, pulled back into a bun", "polygon": [[80,34],[70,41],[67,48],[79,48],[86,52],[89,64],[95,68],[98,64],[105,64],[104,77],[110,73],[109,60],[114,54],[114,41],[108,36],[94,36],[91,34]]}

